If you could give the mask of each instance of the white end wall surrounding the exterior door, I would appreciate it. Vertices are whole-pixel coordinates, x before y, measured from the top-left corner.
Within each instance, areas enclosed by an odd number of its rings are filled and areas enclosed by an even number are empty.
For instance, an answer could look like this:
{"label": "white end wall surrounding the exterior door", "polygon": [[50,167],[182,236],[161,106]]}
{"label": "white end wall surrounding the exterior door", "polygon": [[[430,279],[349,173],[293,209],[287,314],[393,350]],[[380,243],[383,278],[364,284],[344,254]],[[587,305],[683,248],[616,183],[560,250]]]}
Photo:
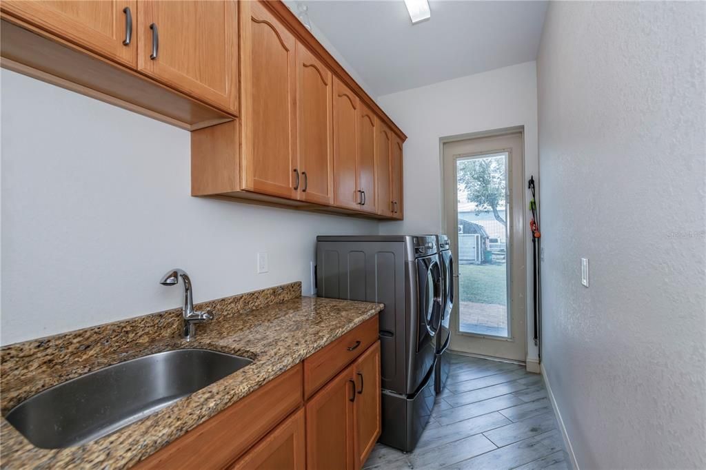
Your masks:
{"label": "white end wall surrounding the exterior door", "polygon": [[[378,97],[407,134],[405,220],[381,222],[381,234],[445,231],[441,214],[439,139],[525,126],[525,173],[538,178],[537,69],[534,61]],[[532,243],[527,237],[527,311],[532,311]],[[537,358],[527,318],[528,358]]]}

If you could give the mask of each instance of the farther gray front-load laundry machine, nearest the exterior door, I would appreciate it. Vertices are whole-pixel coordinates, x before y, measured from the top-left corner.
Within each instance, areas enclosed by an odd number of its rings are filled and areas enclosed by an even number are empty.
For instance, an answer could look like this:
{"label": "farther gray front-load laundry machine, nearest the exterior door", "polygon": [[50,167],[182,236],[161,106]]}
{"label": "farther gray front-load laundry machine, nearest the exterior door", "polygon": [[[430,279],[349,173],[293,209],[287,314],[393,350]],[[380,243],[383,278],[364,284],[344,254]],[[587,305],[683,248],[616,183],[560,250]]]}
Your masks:
{"label": "farther gray front-load laundry machine, nearest the exterior door", "polygon": [[436,383],[434,388],[436,393],[441,393],[448,371],[451,368],[451,360],[449,358],[448,346],[451,342],[450,323],[451,309],[454,302],[453,289],[453,255],[451,254],[451,244],[448,241],[448,236],[436,235],[438,246],[439,260],[441,262],[441,279],[443,285],[443,310],[441,313],[441,325],[436,334]]}

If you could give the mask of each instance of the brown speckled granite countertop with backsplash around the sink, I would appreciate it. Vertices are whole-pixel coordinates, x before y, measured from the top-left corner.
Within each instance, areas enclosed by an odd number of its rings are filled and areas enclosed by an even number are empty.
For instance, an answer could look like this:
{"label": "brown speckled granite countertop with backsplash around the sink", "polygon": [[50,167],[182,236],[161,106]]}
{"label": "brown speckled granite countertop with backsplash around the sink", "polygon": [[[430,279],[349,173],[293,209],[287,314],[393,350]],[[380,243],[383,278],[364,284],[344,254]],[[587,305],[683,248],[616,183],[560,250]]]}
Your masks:
{"label": "brown speckled granite countertop with backsplash around the sink", "polygon": [[300,292],[297,282],[202,303],[197,308],[211,307],[220,315],[213,323],[200,325],[196,340],[188,343],[179,338],[178,309],[3,347],[3,416],[23,399],[56,383],[167,349],[213,349],[252,358],[253,363],[142,421],[79,447],[40,449],[2,418],[2,467],[132,466],[383,308],[379,303],[301,297]]}

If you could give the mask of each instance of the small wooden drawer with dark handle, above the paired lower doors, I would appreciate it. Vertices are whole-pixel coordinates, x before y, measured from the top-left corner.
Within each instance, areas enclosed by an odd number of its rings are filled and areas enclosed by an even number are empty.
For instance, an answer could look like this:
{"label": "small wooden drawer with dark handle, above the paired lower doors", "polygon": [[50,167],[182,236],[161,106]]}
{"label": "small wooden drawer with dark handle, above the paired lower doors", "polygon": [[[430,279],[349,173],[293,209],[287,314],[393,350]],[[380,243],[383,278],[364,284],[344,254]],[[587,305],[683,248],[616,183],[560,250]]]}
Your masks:
{"label": "small wooden drawer with dark handle, above the paired lower doors", "polygon": [[378,340],[378,315],[366,320],[304,360],[304,396],[311,397],[328,380]]}

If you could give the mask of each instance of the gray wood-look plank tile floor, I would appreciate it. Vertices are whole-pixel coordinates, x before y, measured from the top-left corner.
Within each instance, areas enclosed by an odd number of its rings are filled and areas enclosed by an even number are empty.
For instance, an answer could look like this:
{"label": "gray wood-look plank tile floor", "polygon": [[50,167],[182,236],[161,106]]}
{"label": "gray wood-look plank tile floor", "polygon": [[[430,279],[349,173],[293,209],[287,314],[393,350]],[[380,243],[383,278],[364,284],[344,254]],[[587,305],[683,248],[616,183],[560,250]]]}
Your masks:
{"label": "gray wood-look plank tile floor", "polygon": [[379,444],[366,469],[563,469],[563,440],[542,376],[451,355],[445,389],[413,452]]}

